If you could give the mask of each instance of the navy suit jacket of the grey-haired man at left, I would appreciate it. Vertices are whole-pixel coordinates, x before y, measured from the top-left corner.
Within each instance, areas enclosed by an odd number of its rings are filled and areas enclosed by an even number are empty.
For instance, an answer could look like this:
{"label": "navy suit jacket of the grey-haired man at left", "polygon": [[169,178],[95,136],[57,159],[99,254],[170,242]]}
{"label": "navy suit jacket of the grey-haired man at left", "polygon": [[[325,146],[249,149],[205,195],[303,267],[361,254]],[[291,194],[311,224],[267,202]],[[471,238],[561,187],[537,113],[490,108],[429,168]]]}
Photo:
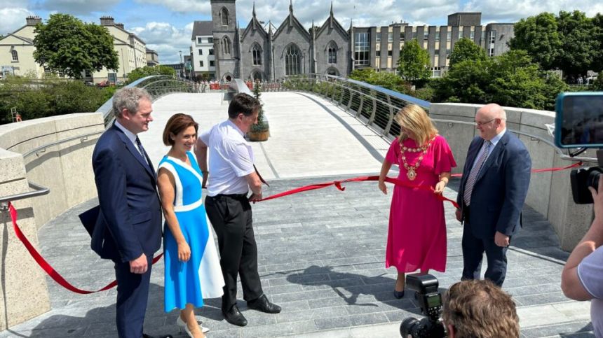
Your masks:
{"label": "navy suit jacket of the grey-haired man at left", "polygon": [[101,258],[129,262],[161,246],[161,204],[153,164],[112,125],[92,156],[100,212],[91,247]]}

